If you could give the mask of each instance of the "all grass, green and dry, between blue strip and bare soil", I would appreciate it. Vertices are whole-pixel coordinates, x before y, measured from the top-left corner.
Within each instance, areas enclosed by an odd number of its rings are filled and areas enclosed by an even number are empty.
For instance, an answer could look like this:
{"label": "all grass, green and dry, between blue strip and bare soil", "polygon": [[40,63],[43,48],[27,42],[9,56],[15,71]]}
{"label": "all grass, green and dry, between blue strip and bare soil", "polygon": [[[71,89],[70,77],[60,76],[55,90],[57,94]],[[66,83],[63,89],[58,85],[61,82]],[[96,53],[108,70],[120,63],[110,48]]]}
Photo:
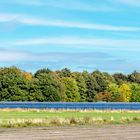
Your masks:
{"label": "all grass, green and dry, between blue strip and bare soil", "polygon": [[140,123],[140,111],[0,110],[0,127],[73,126]]}

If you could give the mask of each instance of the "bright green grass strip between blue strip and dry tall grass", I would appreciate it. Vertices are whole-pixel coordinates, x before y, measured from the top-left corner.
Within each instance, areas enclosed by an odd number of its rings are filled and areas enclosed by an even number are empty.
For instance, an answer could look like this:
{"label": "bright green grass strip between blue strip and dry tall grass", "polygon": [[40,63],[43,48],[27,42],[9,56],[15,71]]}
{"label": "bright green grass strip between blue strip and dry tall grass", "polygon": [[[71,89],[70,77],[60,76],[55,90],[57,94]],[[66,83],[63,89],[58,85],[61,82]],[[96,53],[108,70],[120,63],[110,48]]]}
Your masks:
{"label": "bright green grass strip between blue strip and dry tall grass", "polygon": [[82,118],[94,117],[115,120],[122,117],[140,117],[140,111],[76,111],[76,110],[0,110],[0,119]]}

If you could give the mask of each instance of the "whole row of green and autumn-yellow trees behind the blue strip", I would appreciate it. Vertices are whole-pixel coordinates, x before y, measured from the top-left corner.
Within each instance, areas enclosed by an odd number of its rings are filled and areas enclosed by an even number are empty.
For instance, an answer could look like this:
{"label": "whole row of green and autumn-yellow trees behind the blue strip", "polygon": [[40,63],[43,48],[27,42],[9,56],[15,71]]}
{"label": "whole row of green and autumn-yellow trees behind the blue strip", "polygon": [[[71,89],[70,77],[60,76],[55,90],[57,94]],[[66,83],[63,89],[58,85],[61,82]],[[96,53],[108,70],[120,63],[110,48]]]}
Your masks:
{"label": "whole row of green and autumn-yellow trees behind the blue strip", "polygon": [[140,102],[140,73],[0,68],[0,101]]}

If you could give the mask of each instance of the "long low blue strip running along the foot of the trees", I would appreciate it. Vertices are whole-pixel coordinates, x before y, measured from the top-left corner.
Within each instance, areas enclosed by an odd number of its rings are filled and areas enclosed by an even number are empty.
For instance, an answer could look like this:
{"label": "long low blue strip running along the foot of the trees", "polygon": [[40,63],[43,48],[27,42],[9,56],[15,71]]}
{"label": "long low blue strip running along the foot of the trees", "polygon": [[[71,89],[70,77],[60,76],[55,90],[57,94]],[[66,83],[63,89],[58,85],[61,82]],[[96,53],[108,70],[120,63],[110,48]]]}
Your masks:
{"label": "long low blue strip running along the foot of the trees", "polygon": [[97,109],[97,110],[140,110],[140,103],[87,103],[87,102],[0,102],[0,108],[24,109]]}

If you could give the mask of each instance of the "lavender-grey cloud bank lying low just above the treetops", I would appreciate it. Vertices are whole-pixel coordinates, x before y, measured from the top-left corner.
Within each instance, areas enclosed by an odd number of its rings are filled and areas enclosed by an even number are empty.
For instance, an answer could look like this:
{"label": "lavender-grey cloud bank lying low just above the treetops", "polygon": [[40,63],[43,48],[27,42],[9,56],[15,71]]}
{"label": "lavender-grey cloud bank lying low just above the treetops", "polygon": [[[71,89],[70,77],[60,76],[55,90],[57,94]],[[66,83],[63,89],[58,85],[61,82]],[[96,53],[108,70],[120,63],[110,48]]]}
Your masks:
{"label": "lavender-grey cloud bank lying low just above the treetops", "polygon": [[79,71],[93,71],[95,69],[100,69],[109,72],[130,72],[133,71],[134,67],[140,69],[138,63],[130,62],[128,60],[117,57],[112,57],[108,53],[103,52],[52,52],[36,54],[16,50],[3,50],[0,53],[0,62],[2,66],[16,65],[20,68],[32,72],[36,71],[36,69],[44,67],[49,67],[51,69],[61,69],[64,67],[69,67],[72,68],[72,70]]}

